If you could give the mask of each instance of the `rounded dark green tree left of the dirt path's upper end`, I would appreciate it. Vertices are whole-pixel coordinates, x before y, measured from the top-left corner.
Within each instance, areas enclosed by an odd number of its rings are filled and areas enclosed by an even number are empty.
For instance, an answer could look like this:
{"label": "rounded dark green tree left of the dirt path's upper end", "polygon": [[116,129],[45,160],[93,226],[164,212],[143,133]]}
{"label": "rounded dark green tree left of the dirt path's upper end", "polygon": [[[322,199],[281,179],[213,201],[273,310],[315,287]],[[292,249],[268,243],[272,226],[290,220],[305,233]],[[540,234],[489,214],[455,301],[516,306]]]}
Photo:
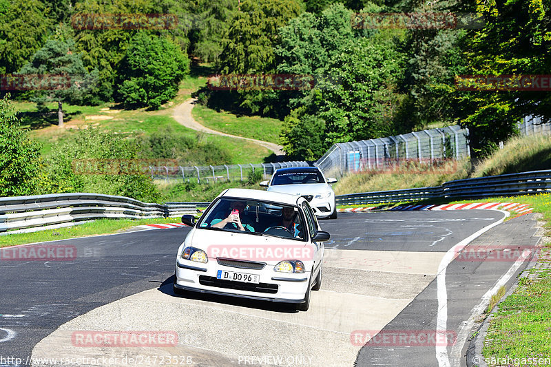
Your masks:
{"label": "rounded dark green tree left of the dirt path's upper end", "polygon": [[189,59],[163,37],[139,32],[129,43],[118,70],[118,100],[128,106],[160,107],[178,92]]}

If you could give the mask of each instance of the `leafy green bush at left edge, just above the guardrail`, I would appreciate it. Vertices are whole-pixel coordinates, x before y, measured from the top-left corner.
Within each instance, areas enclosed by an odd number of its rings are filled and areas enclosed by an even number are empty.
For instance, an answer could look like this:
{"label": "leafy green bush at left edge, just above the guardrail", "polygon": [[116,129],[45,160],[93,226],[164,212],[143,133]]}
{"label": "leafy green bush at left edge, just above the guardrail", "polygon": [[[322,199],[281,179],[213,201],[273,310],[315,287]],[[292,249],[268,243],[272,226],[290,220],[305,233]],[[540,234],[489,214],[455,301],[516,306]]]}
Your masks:
{"label": "leafy green bush at left edge, just above the guardrail", "polygon": [[0,196],[33,195],[41,176],[40,145],[19,127],[9,96],[0,99]]}

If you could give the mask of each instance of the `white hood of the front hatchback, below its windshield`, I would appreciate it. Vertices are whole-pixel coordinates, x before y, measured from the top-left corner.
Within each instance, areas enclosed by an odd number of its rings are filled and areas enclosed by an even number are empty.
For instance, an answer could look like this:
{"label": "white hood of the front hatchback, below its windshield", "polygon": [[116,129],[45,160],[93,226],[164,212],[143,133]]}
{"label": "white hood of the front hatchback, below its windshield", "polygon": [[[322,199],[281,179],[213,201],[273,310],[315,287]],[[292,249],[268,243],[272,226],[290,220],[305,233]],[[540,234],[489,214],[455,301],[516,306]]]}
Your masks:
{"label": "white hood of the front hatchback, below its windshield", "polygon": [[[303,249],[309,248],[307,243],[267,235],[212,231],[200,228],[194,230],[189,240],[186,239],[186,246],[205,251],[209,260],[215,260],[219,257],[266,262],[274,265],[281,260],[289,260],[284,255],[279,257],[280,253],[289,254],[289,251],[293,254],[305,253]],[[278,251],[275,251],[275,249],[278,249]],[[311,258],[306,256],[304,260],[311,260]]]}

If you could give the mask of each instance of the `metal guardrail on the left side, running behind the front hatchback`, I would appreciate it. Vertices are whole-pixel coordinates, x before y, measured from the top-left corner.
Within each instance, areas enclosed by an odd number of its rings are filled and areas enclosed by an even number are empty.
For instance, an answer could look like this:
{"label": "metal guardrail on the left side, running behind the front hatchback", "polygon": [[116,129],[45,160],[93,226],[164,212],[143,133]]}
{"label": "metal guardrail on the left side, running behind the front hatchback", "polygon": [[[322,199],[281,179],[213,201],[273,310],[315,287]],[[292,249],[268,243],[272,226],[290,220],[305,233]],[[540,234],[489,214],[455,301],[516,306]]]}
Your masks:
{"label": "metal guardrail on the left side, running behind the front hatchback", "polygon": [[98,218],[142,219],[196,213],[208,202],[168,202],[160,205],[124,196],[59,193],[0,198],[0,233],[21,233],[67,227]]}

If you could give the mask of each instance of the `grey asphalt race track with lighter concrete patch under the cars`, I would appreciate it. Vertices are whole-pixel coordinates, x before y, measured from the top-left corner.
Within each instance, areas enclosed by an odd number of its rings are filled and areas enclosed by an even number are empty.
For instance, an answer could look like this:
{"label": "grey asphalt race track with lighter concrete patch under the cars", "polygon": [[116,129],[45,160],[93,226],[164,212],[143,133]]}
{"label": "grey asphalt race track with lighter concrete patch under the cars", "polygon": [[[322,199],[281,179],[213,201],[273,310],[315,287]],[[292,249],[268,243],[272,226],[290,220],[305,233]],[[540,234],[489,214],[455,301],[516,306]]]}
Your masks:
{"label": "grey asphalt race track with lighter concrete patch under the cars", "polygon": [[[466,250],[477,249],[472,255],[497,244],[509,246],[506,251],[532,249],[539,241],[532,216],[497,224]],[[383,211],[323,220],[332,237],[325,244],[322,289],[312,293],[307,312],[174,295],[176,250],[187,228],[48,242],[76,256],[0,260],[0,366],[18,366],[17,359],[28,366],[31,355],[119,358],[74,366],[125,366],[121,358],[132,356],[141,356],[143,366],[464,366],[473,309],[497,282],[510,286],[530,257],[460,255],[444,272],[439,267],[450,249],[503,217],[492,210]],[[447,344],[434,342],[437,328],[446,331]],[[178,344],[79,347],[74,331],[169,331]],[[408,341],[396,339],[399,333]]]}

